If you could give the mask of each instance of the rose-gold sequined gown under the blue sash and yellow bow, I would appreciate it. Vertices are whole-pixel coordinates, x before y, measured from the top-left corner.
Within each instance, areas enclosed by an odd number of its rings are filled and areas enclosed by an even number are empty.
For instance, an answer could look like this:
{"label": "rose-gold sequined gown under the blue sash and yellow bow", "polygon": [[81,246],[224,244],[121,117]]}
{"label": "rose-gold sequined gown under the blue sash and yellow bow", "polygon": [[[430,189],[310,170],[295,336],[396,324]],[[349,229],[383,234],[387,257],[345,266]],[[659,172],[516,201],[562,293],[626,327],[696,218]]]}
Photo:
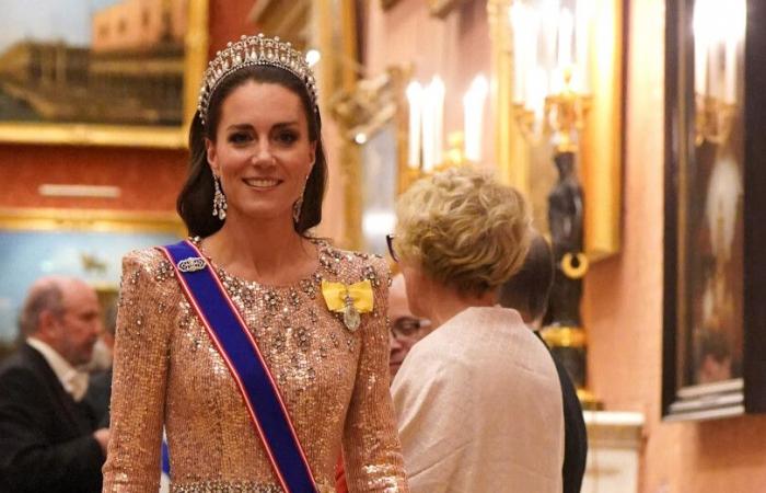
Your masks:
{"label": "rose-gold sequined gown under the blue sash and yellow bow", "polygon": [[[343,444],[350,492],[406,492],[388,393],[385,262],[317,241],[320,267],[266,286],[214,267],[255,336],[322,493]],[[370,279],[374,310],[356,332],[322,279]],[[173,492],[281,491],[223,358],[159,250],[123,261],[105,492],[155,492],[163,425]]]}

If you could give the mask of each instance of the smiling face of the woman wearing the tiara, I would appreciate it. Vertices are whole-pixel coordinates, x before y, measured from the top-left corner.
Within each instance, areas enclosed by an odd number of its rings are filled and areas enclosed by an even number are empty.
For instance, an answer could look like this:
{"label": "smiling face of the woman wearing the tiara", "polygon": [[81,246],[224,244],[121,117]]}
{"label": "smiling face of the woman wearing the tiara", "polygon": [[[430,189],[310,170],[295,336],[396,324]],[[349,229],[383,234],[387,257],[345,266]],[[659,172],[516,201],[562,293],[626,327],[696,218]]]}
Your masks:
{"label": "smiling face of the woman wearing the tiara", "polygon": [[206,146],[230,217],[292,221],[316,150],[298,94],[276,83],[243,83],[223,100],[216,141]]}

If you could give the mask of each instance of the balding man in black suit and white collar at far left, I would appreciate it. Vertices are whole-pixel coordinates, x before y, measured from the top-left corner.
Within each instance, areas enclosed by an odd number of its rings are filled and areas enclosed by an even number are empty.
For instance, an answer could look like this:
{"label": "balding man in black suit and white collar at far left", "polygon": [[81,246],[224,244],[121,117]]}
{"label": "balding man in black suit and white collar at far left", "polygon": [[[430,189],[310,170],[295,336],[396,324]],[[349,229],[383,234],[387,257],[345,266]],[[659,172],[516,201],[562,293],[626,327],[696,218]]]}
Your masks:
{"label": "balding man in black suit and white collar at far left", "polygon": [[101,492],[109,432],[81,400],[101,331],[93,288],[37,280],[20,318],[26,339],[0,367],[0,492]]}

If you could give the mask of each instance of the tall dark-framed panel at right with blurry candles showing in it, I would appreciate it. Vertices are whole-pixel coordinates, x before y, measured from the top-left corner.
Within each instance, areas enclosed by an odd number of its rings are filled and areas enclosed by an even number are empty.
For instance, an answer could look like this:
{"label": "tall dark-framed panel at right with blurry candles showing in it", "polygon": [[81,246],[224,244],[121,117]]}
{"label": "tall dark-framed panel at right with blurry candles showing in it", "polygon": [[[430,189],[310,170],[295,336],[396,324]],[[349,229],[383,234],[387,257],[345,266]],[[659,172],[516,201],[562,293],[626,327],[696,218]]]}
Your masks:
{"label": "tall dark-framed panel at right with blurry candles showing in it", "polygon": [[666,5],[665,420],[766,411],[763,22],[754,0]]}

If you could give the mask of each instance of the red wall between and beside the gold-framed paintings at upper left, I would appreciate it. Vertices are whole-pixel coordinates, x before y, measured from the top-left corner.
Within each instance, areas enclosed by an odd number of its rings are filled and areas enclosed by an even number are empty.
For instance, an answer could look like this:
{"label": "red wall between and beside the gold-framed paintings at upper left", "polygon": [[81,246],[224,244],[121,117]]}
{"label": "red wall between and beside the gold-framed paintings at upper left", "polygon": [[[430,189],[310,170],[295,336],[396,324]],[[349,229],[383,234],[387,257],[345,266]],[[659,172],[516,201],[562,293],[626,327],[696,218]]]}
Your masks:
{"label": "red wall between and beside the gold-framed paintings at upper left", "polygon": [[[253,0],[210,0],[210,53],[252,34]],[[186,173],[185,149],[0,144],[0,208],[97,208],[170,211]],[[43,197],[43,183],[111,185],[119,198]]]}

